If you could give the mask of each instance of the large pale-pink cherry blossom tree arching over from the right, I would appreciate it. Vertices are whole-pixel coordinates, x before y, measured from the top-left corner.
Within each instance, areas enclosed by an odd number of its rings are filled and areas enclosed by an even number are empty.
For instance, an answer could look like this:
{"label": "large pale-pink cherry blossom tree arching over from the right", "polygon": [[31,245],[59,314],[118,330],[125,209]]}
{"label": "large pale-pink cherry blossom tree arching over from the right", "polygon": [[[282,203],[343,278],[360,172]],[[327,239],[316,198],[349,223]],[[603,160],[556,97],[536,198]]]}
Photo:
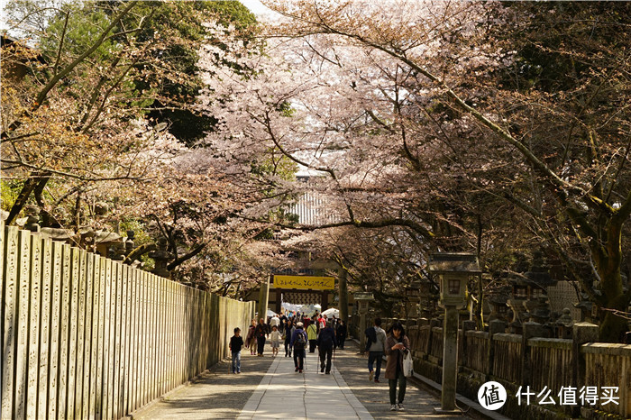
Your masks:
{"label": "large pale-pink cherry blossom tree arching over from the right", "polygon": [[[223,125],[209,142],[241,163],[250,152],[272,150],[322,174],[319,187],[340,221],[319,227],[400,225],[443,249],[449,245],[436,236],[458,235],[455,248],[480,251],[484,226],[506,235],[516,212],[524,212],[528,223],[520,226],[519,246],[538,239],[538,246],[553,250],[603,308],[601,338],[619,339],[626,322],[610,310],[624,311],[629,302],[620,276],[621,233],[631,210],[624,113],[616,105],[601,107],[606,123],[598,125],[564,101],[593,102],[627,86],[620,69],[628,57],[613,47],[626,39],[616,20],[623,14],[599,11],[609,30],[597,44],[607,52],[587,60],[581,82],[555,96],[508,87],[509,80],[524,83],[519,66],[528,46],[516,34],[536,27],[532,8],[410,1],[268,5],[285,20],[270,25],[264,54],[242,54],[258,68],[256,77],[224,73],[211,85],[223,100],[205,105]],[[569,22],[577,23],[577,38],[589,38],[580,19]],[[572,47],[553,52],[588,57]],[[515,68],[521,73],[511,80]],[[593,88],[581,96],[572,90],[577,86]],[[577,137],[579,126],[585,135]],[[566,141],[551,142],[551,133]],[[608,142],[599,141],[602,136]],[[579,159],[578,151],[588,155]],[[502,207],[511,217],[498,215]],[[572,273],[578,260],[593,264],[587,278],[584,270]]]}

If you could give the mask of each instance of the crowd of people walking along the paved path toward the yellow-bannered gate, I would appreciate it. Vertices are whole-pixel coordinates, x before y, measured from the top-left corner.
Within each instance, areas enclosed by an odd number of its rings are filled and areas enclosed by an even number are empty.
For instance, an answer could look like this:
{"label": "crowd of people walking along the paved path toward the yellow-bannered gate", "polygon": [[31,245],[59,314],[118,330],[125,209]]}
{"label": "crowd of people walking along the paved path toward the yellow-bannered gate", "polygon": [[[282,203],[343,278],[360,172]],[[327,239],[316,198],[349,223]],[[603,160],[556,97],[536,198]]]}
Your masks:
{"label": "crowd of people walking along the paved path toward the yellow-bannered gate", "polygon": [[[406,396],[407,372],[404,370],[404,359],[410,352],[410,342],[405,328],[400,323],[393,324],[386,332],[381,328],[381,319],[375,318],[373,325],[366,329],[366,348],[368,353],[369,380],[380,382],[381,362],[387,356],[385,379],[388,379],[390,410],[403,411],[403,400]],[[241,337],[241,330],[234,329],[234,336],[230,340],[230,350],[233,353],[232,371],[241,373],[241,349],[250,349],[250,354],[263,357],[265,342],[271,341],[272,355],[278,356],[280,342],[285,347],[285,357],[294,358],[295,371],[305,370],[306,350],[315,353],[318,349],[320,358],[320,372],[330,374],[332,370],[332,356],[336,349],[344,348],[347,329],[341,319],[327,318],[315,313],[313,316],[290,313],[280,316],[270,316],[257,323],[252,319],[245,342]],[[398,388],[398,393],[397,393]]]}

